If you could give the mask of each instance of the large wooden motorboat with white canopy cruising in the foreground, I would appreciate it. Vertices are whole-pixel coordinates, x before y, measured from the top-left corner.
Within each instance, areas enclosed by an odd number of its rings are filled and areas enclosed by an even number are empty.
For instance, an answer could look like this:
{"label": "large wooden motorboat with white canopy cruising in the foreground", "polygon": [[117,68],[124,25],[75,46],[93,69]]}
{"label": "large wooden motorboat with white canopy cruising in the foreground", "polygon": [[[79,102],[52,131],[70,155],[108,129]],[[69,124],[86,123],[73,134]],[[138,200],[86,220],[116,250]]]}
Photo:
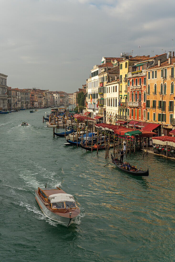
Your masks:
{"label": "large wooden motorboat with white canopy cruising in the foreground", "polygon": [[66,227],[80,213],[74,197],[59,187],[38,187],[38,190],[35,190],[35,199],[45,216]]}

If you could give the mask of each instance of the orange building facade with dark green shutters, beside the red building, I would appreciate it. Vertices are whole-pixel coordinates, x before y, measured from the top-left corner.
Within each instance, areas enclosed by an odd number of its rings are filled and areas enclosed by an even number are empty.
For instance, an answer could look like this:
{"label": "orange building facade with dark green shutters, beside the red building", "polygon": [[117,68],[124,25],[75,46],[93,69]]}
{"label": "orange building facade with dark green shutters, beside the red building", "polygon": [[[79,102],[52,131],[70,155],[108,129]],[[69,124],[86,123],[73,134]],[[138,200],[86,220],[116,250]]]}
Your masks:
{"label": "orange building facade with dark green shutters, beside the red building", "polygon": [[160,124],[159,135],[169,135],[175,126],[174,110],[174,67],[175,57],[154,65],[146,70],[147,73],[147,99],[146,121]]}

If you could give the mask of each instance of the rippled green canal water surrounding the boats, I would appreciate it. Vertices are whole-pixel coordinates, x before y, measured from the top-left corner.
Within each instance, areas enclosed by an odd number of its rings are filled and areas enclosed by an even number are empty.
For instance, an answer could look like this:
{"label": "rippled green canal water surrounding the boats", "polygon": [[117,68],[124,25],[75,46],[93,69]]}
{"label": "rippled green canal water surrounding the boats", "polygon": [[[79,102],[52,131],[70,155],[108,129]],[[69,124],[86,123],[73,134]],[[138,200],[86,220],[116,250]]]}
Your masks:
{"label": "rippled green canal water surrounding the boats", "polygon": [[[0,115],[0,261],[174,261],[175,161],[127,156],[149,168],[143,178],[104,167],[104,151],[64,146],[43,115]],[[34,190],[45,183],[74,195],[68,228],[40,211]]]}

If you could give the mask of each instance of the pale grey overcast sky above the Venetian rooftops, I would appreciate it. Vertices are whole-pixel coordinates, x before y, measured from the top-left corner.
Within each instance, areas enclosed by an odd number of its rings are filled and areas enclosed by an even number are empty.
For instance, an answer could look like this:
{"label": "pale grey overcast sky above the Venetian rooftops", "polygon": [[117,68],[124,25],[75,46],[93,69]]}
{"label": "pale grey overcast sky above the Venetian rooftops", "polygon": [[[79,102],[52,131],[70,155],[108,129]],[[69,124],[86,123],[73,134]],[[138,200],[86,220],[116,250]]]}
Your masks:
{"label": "pale grey overcast sky above the Venetian rooftops", "polygon": [[12,88],[74,92],[103,56],[168,53],[172,39],[175,50],[174,10],[173,0],[1,0],[0,73]]}

